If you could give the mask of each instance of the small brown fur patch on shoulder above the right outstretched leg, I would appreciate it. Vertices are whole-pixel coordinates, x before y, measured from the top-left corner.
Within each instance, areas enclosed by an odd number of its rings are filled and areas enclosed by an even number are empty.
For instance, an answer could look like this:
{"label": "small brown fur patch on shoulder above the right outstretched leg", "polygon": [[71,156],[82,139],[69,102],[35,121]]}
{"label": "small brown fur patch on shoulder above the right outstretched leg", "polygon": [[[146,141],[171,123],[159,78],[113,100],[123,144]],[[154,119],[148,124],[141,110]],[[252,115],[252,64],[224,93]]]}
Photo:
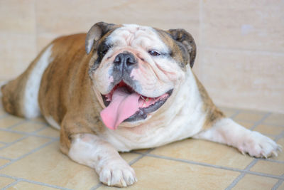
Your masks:
{"label": "small brown fur patch on shoulder above the right outstretched leg", "polygon": [[200,91],[201,98],[204,102],[204,112],[206,113],[207,117],[203,125],[203,130],[207,130],[209,127],[212,127],[215,122],[225,117],[224,113],[219,110],[216,105],[214,105],[213,101],[209,97],[207,91],[205,90],[200,80],[197,79],[195,75],[195,80],[198,86],[198,90]]}

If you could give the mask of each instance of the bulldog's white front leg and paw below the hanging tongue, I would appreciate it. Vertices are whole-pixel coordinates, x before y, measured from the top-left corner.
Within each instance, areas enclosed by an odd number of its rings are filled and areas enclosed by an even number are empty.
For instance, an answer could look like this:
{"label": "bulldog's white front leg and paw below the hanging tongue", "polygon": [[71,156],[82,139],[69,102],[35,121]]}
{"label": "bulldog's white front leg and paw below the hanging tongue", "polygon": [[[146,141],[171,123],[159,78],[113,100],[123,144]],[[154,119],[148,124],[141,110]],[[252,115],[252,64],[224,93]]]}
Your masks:
{"label": "bulldog's white front leg and paw below the hanging tongue", "polygon": [[130,186],[137,181],[134,170],[116,149],[94,134],[73,135],[68,155],[96,169],[99,180],[109,186]]}

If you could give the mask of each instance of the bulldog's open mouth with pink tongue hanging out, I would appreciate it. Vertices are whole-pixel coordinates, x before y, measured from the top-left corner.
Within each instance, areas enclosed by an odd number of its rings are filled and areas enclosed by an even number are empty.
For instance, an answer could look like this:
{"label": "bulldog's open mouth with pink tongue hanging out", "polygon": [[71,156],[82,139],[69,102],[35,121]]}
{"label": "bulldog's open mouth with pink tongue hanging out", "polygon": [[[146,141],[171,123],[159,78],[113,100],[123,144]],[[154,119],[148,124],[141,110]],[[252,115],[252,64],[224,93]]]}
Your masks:
{"label": "bulldog's open mouth with pink tongue hanging out", "polygon": [[101,112],[104,125],[111,130],[116,130],[121,122],[144,120],[148,113],[158,110],[172,93],[173,89],[159,97],[145,97],[136,93],[121,80],[114,86],[111,93],[102,95],[106,105]]}

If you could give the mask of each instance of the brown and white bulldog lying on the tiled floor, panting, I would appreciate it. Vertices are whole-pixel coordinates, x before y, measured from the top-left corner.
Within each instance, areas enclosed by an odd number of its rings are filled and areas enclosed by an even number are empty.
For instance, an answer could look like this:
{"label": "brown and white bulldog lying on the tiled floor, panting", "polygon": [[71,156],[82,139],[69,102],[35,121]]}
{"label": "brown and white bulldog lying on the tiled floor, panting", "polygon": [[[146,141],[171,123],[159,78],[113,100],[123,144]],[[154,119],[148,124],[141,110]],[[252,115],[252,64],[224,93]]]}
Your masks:
{"label": "brown and white bulldog lying on the tiled floor, panting", "polygon": [[195,41],[183,29],[99,22],[55,39],[1,88],[4,109],[43,115],[60,130],[60,149],[108,186],[137,179],[119,155],[189,137],[277,156],[272,139],[226,117],[192,73]]}

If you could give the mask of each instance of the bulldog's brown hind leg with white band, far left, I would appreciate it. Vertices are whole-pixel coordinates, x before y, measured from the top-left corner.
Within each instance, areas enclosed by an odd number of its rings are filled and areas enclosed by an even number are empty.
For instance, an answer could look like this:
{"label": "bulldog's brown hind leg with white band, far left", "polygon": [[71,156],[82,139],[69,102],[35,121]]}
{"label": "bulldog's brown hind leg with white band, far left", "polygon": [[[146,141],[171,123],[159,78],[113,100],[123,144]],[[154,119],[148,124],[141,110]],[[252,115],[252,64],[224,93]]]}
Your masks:
{"label": "bulldog's brown hind leg with white band, far left", "polygon": [[38,90],[43,72],[51,61],[51,53],[52,45],[49,45],[23,74],[1,87],[2,102],[6,112],[27,118],[40,115]]}

